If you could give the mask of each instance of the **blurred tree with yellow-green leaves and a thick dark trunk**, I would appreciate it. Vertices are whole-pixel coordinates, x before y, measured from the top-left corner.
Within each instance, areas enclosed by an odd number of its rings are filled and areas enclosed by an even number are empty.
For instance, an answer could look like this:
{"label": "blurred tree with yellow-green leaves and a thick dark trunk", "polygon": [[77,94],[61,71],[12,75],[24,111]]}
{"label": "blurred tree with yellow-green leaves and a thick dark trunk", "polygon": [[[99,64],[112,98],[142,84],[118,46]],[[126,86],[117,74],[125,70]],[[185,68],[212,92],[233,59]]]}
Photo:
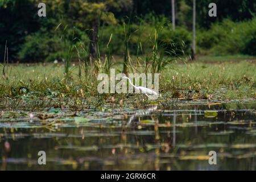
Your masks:
{"label": "blurred tree with yellow-green leaves and a thick dark trunk", "polygon": [[[35,0],[40,2],[40,0]],[[119,12],[122,9],[129,9],[132,6],[131,0],[46,0],[45,3],[50,8],[50,14],[60,22],[69,26],[76,26],[81,30],[86,30],[90,38],[90,55],[96,58],[96,44],[98,42],[98,27],[103,24],[117,24],[112,11]]]}

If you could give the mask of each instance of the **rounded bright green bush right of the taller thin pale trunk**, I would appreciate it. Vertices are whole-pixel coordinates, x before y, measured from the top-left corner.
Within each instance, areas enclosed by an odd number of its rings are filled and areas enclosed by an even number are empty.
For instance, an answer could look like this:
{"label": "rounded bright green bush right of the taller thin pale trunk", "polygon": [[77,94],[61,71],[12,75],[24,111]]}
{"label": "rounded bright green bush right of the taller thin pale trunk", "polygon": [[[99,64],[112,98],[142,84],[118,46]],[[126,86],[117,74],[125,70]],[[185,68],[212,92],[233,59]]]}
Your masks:
{"label": "rounded bright green bush right of the taller thin pale trunk", "polygon": [[201,52],[256,55],[256,18],[247,22],[225,19],[212,24],[208,31],[200,31],[197,44]]}

